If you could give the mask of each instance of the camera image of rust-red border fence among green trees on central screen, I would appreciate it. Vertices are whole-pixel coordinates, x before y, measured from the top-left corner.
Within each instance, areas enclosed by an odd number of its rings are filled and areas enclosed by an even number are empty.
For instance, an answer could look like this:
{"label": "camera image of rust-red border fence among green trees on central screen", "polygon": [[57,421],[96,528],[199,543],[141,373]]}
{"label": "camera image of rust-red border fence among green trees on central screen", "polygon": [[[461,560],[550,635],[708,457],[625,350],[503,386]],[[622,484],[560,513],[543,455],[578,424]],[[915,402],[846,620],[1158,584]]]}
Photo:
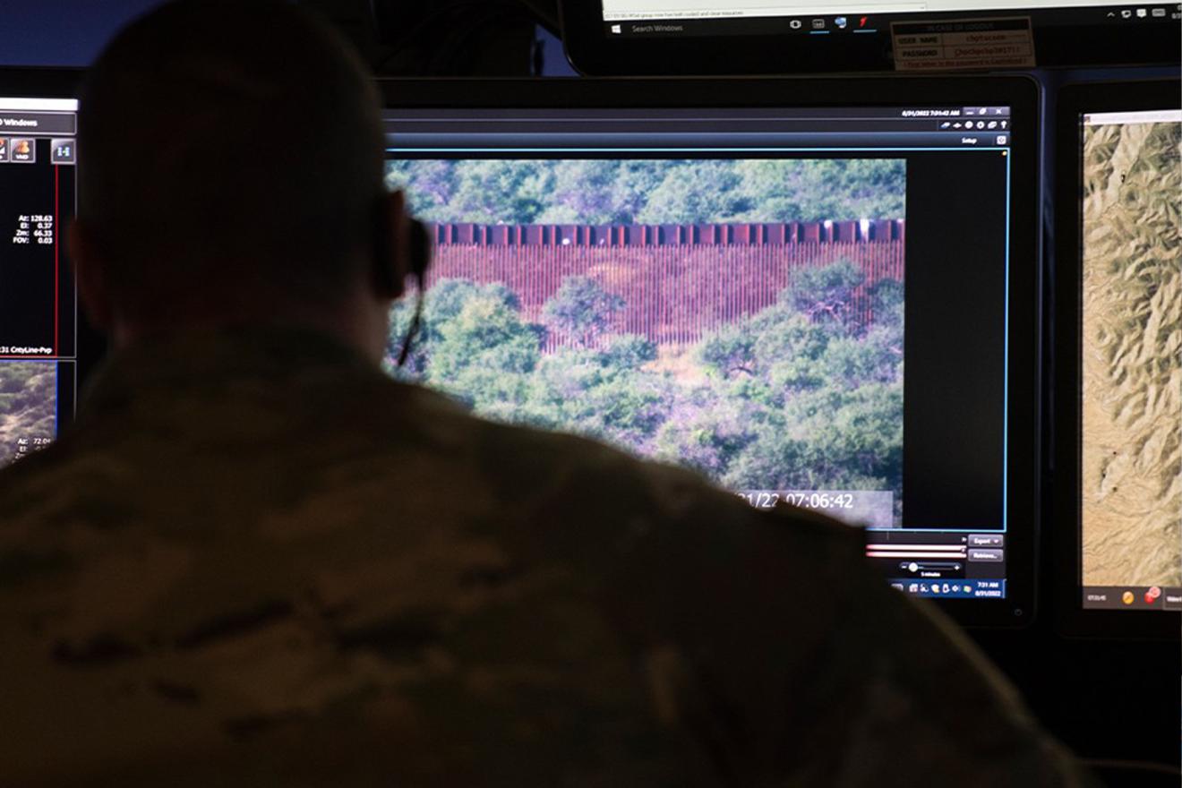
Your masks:
{"label": "camera image of rust-red border fence among green trees on central screen", "polygon": [[422,328],[389,369],[487,418],[900,527],[903,159],[411,159]]}

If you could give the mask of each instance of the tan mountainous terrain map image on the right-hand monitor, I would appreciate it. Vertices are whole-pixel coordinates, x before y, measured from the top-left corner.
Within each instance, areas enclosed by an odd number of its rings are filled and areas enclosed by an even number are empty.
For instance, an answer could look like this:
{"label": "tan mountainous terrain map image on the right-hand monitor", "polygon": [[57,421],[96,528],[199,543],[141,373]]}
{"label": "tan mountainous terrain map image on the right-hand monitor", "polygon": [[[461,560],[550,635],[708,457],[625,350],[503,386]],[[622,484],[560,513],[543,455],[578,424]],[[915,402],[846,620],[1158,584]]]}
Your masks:
{"label": "tan mountainous terrain map image on the right-hand monitor", "polygon": [[1084,586],[1182,587],[1180,145],[1182,123],[1084,126]]}

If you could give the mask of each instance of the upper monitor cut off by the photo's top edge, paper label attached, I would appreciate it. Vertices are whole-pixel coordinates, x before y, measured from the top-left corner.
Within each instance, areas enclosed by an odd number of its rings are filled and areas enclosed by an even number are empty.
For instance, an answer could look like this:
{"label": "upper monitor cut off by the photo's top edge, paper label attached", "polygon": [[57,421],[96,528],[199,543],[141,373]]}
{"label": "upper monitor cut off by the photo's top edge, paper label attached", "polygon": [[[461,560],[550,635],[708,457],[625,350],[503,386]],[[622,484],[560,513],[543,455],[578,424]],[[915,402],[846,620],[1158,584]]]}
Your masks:
{"label": "upper monitor cut off by the photo's top edge, paper label attached", "polygon": [[1176,65],[1176,0],[559,0],[589,74]]}

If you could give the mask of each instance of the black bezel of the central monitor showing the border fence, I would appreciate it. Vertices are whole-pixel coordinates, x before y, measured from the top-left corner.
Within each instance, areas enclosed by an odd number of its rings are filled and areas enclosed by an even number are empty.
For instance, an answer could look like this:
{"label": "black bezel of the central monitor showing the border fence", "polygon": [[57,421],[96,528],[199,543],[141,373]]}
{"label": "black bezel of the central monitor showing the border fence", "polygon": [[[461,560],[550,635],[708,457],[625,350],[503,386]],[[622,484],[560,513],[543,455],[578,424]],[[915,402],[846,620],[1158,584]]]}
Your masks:
{"label": "black bezel of the central monitor showing the border fence", "polygon": [[[968,626],[1015,627],[1035,610],[1041,331],[1039,265],[1039,87],[1026,77],[858,77],[716,79],[385,79],[388,109],[674,108],[981,104],[1013,108],[1011,222],[1011,467],[1007,598],[934,600]],[[784,100],[778,97],[790,97]],[[1014,308],[1019,305],[1019,308]]]}

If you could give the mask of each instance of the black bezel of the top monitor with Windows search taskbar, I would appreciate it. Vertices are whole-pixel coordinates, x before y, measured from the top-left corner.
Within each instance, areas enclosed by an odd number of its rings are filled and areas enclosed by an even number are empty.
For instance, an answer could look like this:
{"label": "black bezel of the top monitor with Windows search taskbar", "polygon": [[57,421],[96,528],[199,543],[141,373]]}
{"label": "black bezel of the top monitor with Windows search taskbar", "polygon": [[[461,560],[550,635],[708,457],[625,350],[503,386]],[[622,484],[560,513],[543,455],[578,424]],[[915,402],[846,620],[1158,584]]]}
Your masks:
{"label": "black bezel of the top monitor with Windows search taskbar", "polygon": [[[604,34],[600,0],[559,0],[563,45],[571,64],[585,74],[794,74],[892,71],[890,26],[871,35],[717,35],[619,38]],[[837,13],[837,12],[834,12]],[[820,14],[825,15],[825,14]],[[965,17],[1024,17],[1030,9],[987,13],[936,13],[930,21]],[[916,21],[910,19],[909,21]],[[1167,20],[1171,21],[1171,20]],[[1178,63],[1178,25],[1137,24],[1136,34],[1119,25],[1045,26],[1035,22],[1039,66],[1168,65]]]}

